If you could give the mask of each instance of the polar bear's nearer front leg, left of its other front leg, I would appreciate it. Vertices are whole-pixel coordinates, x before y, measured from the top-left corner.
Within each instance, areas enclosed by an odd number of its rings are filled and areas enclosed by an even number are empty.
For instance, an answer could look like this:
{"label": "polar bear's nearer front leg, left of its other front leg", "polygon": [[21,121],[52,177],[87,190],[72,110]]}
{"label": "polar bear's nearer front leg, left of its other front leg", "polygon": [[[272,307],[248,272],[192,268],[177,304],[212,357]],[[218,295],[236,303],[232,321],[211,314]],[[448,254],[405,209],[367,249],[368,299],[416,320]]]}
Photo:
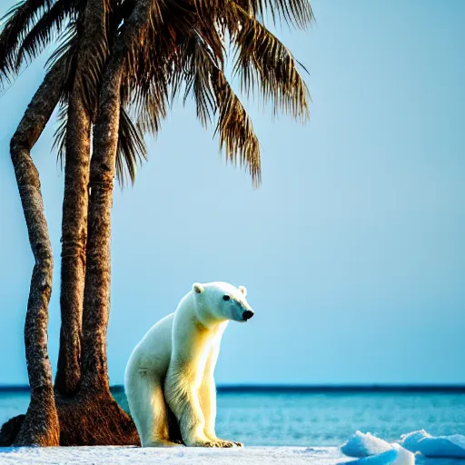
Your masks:
{"label": "polar bear's nearer front leg, left of its other front leg", "polygon": [[[182,373],[182,374],[181,374]],[[185,372],[172,369],[166,374],[164,396],[179,423],[186,446],[221,447],[205,436],[205,419],[195,383],[186,380]]]}

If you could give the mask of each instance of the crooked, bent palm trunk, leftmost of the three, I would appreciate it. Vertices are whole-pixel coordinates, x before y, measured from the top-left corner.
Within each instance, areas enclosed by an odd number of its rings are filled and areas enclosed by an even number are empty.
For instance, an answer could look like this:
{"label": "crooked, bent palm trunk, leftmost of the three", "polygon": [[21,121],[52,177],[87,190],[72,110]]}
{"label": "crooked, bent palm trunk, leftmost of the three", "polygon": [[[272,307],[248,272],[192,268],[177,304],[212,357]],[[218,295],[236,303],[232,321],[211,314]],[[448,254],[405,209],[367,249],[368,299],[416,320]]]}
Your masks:
{"label": "crooked, bent palm trunk, leftmost of the three", "polygon": [[35,257],[25,317],[25,357],[31,401],[15,439],[17,445],[56,446],[60,438],[52,368],[47,352],[48,303],[52,292],[54,259],[39,173],[31,158],[31,149],[58,103],[61,79],[57,64],[45,76],[44,83],[35,93],[10,146],[29,242]]}

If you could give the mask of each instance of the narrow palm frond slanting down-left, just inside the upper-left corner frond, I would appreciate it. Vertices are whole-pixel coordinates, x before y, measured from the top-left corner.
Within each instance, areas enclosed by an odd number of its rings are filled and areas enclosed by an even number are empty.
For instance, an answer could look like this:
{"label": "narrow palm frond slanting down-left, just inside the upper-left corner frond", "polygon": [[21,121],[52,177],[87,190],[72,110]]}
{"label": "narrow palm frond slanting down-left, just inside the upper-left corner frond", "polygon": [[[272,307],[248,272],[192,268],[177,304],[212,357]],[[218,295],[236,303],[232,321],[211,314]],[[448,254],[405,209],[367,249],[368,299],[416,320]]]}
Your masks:
{"label": "narrow palm frond slanting down-left, just inside the upper-left corner frond", "polygon": [[54,38],[54,33],[61,32],[67,19],[75,22],[84,2],[79,0],[58,0],[35,23],[19,46],[16,56],[16,69],[25,59],[32,60],[40,54]]}

